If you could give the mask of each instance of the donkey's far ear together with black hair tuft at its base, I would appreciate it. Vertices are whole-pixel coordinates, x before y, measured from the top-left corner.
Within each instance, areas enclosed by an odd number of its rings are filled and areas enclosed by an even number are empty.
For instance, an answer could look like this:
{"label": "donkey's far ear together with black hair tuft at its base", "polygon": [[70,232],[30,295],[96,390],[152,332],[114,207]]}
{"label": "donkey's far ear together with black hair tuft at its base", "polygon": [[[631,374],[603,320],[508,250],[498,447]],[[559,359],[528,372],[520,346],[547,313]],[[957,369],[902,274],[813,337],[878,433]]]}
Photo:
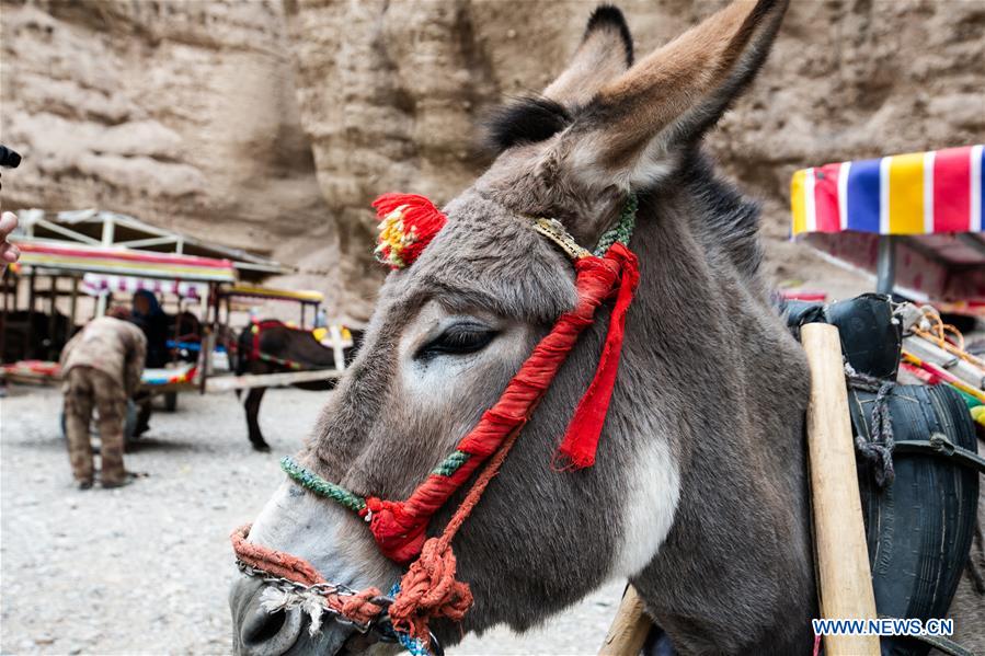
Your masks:
{"label": "donkey's far ear together with black hair tuft at its base", "polygon": [[520,97],[486,117],[484,150],[499,154],[518,143],[545,141],[572,124],[572,115],[632,66],[632,37],[622,12],[602,4],[588,19],[571,64],[539,96]]}

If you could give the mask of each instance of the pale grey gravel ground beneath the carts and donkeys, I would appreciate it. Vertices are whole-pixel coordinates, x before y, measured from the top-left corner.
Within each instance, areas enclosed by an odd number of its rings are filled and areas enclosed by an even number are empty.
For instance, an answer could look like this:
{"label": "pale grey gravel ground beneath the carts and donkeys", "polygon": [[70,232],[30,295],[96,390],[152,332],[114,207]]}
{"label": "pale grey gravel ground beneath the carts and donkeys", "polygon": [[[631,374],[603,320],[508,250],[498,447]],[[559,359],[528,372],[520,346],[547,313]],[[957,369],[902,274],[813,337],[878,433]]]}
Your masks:
{"label": "pale grey gravel ground beneath the carts and donkeys", "polygon": [[[273,453],[298,449],[318,393],[273,390],[261,419]],[[147,472],[123,490],[75,488],[55,390],[0,400],[0,652],[226,654],[228,534],[280,480],[255,453],[232,394],[181,396],[126,456]],[[594,654],[615,613],[612,583],[542,629],[469,637],[454,654]]]}

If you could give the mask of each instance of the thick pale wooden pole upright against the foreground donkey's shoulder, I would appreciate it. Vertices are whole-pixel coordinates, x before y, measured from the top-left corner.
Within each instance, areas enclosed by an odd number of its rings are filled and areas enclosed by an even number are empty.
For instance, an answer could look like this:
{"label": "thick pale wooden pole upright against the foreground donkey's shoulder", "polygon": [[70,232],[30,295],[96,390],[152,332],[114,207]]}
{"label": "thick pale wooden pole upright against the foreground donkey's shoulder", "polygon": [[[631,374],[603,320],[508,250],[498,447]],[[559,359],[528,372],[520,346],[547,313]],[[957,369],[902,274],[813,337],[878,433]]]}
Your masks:
{"label": "thick pale wooden pole upright against the foreground donkey's shoulder", "polygon": [[[838,329],[809,323],[801,342],[811,367],[808,459],[821,615],[875,619],[862,504]],[[828,656],[879,656],[875,635],[826,635]]]}

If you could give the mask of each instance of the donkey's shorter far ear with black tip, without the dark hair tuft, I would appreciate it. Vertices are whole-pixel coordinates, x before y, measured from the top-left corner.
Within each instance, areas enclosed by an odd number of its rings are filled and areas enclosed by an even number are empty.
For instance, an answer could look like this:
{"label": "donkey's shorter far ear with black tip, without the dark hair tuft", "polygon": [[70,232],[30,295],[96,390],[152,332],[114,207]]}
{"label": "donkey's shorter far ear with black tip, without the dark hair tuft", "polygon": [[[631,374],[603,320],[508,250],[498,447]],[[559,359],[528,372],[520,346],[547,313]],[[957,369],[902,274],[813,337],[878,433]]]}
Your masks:
{"label": "donkey's shorter far ear with black tip, without the dark hair tuft", "polygon": [[592,12],[582,43],[568,68],[543,96],[568,110],[587,105],[603,87],[632,66],[632,36],[618,8],[600,4]]}

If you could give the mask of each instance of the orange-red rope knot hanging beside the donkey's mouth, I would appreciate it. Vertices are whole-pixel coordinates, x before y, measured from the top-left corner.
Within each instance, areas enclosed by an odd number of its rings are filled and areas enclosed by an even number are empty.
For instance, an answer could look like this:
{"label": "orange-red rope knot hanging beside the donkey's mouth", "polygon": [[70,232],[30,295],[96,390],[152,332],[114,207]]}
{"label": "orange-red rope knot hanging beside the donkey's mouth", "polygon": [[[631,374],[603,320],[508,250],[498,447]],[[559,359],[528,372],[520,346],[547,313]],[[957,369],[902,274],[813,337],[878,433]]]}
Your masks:
{"label": "orange-red rope knot hanging beside the donkey's mouth", "polygon": [[393,628],[427,641],[427,625],[433,618],[460,622],[472,606],[472,591],[468,584],[455,578],[456,566],[447,540],[427,540],[420,557],[400,580],[400,594],[390,606]]}

